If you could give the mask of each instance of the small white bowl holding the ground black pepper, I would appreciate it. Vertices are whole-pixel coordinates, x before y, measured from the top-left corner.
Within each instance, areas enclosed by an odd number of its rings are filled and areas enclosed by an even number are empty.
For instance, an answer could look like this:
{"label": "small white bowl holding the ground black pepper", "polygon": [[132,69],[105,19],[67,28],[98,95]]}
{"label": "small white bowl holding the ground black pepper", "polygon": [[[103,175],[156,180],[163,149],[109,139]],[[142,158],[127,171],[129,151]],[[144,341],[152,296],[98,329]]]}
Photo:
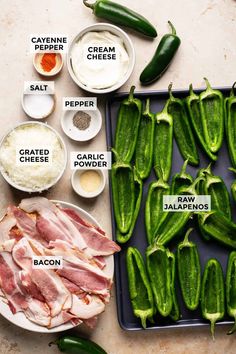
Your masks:
{"label": "small white bowl holding the ground black pepper", "polygon": [[[90,125],[85,130],[80,130],[73,124],[73,117],[79,111],[85,112],[91,116]],[[64,133],[72,140],[88,141],[99,133],[102,127],[102,115],[99,109],[89,111],[83,111],[82,109],[78,111],[67,110],[64,112],[61,118],[61,127]]]}

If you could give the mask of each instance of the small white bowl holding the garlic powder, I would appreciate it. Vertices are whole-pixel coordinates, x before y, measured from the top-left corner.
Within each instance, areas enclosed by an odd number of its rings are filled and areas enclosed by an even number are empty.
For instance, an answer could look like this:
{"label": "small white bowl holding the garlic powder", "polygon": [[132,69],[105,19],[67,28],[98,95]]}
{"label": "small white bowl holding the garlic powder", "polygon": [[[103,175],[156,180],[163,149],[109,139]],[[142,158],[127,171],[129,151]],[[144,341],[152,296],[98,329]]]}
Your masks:
{"label": "small white bowl holding the garlic powder", "polygon": [[89,169],[74,170],[74,172],[71,175],[72,188],[74,189],[75,193],[77,193],[79,196],[81,196],[83,198],[95,198],[103,192],[105,185],[106,185],[106,176],[105,176],[105,173],[103,170],[100,170],[100,169],[91,170],[91,171],[96,171],[100,175],[101,184],[96,191],[87,192],[80,185],[80,177],[81,177],[82,173],[84,173],[86,171],[89,171]]}

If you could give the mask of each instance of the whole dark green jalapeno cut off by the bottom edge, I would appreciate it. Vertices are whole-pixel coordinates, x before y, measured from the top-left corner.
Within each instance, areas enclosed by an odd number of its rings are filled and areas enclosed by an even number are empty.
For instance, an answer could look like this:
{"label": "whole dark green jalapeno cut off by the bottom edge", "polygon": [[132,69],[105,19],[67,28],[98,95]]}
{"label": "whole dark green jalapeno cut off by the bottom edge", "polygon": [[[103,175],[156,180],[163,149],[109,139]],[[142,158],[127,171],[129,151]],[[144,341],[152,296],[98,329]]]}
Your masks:
{"label": "whole dark green jalapeno cut off by the bottom edge", "polygon": [[89,339],[65,335],[55,342],[49,343],[49,346],[56,344],[58,349],[68,354],[107,354],[98,344]]}

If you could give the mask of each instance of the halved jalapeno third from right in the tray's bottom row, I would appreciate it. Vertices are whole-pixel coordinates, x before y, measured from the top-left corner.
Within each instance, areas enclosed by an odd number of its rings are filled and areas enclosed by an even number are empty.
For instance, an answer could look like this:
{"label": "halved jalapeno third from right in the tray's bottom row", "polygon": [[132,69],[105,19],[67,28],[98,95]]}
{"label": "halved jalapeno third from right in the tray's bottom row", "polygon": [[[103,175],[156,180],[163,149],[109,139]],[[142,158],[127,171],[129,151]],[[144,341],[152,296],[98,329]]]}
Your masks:
{"label": "halved jalapeno third from right in the tray's bottom row", "polygon": [[189,229],[178,244],[177,265],[184,303],[189,310],[196,310],[200,298],[201,266],[197,245],[188,239],[192,230]]}

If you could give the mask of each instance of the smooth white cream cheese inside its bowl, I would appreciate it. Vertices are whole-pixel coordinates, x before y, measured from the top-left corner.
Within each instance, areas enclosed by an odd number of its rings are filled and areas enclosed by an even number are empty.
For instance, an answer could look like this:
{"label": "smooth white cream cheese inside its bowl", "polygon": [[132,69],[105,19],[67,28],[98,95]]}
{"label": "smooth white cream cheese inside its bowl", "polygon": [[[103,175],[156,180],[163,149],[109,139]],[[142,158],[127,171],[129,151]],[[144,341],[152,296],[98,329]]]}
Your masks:
{"label": "smooth white cream cheese inside its bowl", "polygon": [[129,60],[123,40],[109,31],[84,34],[71,52],[75,76],[92,89],[117,84],[126,75]]}

